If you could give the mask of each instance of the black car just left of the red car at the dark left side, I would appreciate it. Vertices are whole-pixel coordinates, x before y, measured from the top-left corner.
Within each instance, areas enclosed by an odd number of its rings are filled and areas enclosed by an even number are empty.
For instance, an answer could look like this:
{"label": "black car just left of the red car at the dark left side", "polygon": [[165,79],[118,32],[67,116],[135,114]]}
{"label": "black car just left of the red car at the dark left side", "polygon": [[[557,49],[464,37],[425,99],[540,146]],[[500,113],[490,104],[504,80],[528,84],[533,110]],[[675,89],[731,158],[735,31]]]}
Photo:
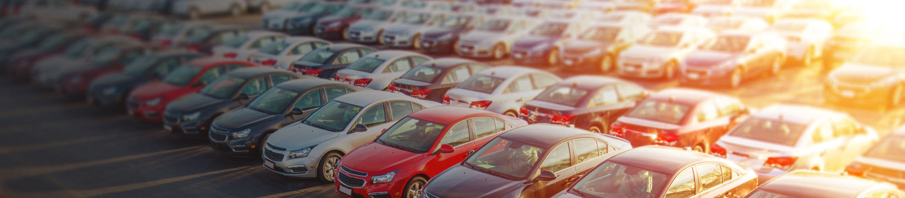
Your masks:
{"label": "black car just left of the red car at the dark left side", "polygon": [[145,82],[163,79],[179,65],[203,56],[198,52],[159,52],[142,56],[121,72],[91,81],[86,91],[88,103],[102,108],[122,107],[130,90]]}

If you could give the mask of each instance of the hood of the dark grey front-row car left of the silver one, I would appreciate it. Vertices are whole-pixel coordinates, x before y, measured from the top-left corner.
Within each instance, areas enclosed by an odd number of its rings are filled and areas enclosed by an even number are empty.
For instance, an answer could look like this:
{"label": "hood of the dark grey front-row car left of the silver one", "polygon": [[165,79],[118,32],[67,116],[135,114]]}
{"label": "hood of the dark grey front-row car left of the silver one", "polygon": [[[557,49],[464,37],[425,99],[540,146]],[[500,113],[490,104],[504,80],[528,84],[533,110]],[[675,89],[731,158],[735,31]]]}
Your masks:
{"label": "hood of the dark grey front-row car left of the silver one", "polygon": [[214,120],[214,126],[226,129],[241,129],[258,123],[282,118],[280,114],[267,114],[252,108],[236,108]]}

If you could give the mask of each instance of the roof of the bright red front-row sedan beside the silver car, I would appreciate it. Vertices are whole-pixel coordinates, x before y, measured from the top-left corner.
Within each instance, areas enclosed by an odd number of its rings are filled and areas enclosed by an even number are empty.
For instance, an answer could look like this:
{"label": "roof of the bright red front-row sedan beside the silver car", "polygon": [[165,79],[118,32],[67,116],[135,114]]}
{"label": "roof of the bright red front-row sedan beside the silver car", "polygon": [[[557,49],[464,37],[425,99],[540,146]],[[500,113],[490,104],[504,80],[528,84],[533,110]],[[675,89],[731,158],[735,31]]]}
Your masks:
{"label": "roof of the bright red front-row sedan beside the silver car", "polygon": [[412,118],[424,119],[437,124],[451,125],[452,122],[460,120],[462,118],[472,118],[479,116],[496,118],[497,115],[499,114],[477,108],[444,105],[433,108],[424,108],[408,116]]}

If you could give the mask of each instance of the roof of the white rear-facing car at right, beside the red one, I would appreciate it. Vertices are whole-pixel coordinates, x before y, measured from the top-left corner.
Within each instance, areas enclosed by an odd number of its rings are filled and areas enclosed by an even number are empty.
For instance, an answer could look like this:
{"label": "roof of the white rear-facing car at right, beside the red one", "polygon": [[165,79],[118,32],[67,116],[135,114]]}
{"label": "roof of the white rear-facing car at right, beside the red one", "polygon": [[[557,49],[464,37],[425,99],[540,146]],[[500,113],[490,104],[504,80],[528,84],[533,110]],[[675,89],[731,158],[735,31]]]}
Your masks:
{"label": "roof of the white rear-facing car at right, beside the red one", "polygon": [[813,108],[800,105],[771,105],[755,112],[752,117],[782,120],[784,122],[808,125],[818,118],[841,113],[823,108]]}

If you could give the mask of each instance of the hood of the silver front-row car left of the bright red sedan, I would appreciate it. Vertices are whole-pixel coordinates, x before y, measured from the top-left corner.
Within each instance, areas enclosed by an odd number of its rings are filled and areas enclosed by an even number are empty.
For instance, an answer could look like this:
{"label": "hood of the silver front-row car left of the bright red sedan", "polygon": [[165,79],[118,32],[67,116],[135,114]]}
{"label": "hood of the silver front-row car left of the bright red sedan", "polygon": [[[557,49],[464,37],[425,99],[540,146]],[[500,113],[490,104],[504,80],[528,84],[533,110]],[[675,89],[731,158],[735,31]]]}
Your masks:
{"label": "hood of the silver front-row car left of the bright red sedan", "polygon": [[301,122],[282,127],[267,138],[267,143],[287,150],[300,150],[319,145],[329,139],[339,137],[340,132],[332,132],[319,127],[311,127]]}

